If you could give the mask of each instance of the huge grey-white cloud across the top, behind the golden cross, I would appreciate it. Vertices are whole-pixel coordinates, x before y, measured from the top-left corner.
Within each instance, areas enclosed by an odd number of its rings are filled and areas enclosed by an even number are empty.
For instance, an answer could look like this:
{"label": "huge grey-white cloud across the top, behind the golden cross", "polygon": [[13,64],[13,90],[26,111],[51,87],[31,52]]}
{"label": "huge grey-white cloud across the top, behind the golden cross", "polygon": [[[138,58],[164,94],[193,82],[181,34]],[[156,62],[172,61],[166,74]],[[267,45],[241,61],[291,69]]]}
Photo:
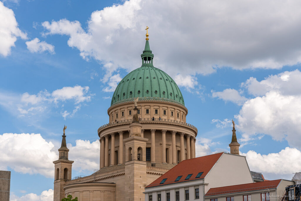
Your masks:
{"label": "huge grey-white cloud across the top, behind the golden cross", "polygon": [[84,29],[79,21],[66,19],[42,26],[45,35],[69,36],[68,45],[85,59],[101,61],[110,77],[117,68],[139,67],[147,25],[154,65],[175,78],[224,66],[279,69],[300,62],[296,33],[301,27],[295,26],[301,22],[300,8],[301,2],[281,0],[176,0],[172,6],[169,1],[130,0],[94,11]]}

